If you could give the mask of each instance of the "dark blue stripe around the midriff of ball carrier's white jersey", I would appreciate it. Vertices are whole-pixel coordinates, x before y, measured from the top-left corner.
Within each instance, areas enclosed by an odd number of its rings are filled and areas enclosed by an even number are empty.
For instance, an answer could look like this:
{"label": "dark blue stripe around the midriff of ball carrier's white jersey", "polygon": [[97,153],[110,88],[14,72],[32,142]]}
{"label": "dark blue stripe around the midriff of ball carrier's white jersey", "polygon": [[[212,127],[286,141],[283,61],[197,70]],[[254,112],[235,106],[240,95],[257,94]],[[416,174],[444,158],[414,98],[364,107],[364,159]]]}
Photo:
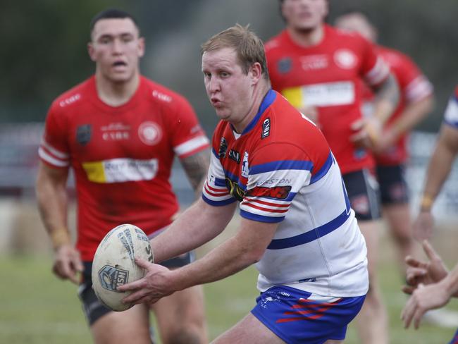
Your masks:
{"label": "dark blue stripe around the midriff of ball carrier's white jersey", "polygon": [[323,237],[326,234],[331,233],[332,231],[335,231],[337,228],[342,226],[342,224],[345,223],[345,221],[347,221],[350,214],[351,213],[347,213],[347,210],[344,210],[342,211],[342,214],[337,216],[335,219],[323,224],[323,226],[314,228],[311,231],[308,231],[307,233],[295,235],[290,238],[273,239],[267,248],[269,250],[280,250],[283,248],[307,244],[307,242],[314,241],[318,238]]}

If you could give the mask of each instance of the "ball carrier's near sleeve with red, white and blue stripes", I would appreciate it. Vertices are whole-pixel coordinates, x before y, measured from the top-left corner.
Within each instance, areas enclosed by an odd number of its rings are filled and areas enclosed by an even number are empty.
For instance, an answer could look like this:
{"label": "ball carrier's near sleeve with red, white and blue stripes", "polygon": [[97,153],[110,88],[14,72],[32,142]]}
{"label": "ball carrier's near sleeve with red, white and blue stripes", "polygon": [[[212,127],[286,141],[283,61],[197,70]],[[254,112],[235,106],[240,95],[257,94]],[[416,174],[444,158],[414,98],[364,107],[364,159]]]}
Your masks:
{"label": "ball carrier's near sleeve with red, white and blue stripes", "polygon": [[313,163],[298,147],[278,143],[261,147],[248,161],[240,215],[260,222],[283,221],[297,192],[310,184]]}

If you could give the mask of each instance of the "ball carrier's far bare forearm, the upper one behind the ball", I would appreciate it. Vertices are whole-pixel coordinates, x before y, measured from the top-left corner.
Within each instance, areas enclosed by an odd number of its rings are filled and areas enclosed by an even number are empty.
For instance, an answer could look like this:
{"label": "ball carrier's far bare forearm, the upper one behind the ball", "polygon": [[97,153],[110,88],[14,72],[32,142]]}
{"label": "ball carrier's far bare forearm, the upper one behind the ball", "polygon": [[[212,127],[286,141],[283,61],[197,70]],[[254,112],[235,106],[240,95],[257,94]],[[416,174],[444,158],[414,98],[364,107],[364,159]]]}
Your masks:
{"label": "ball carrier's far bare forearm, the upper one behind the ball", "polygon": [[212,207],[202,198],[183,212],[166,231],[151,240],[154,262],[189,252],[221,233],[233,216],[235,204]]}

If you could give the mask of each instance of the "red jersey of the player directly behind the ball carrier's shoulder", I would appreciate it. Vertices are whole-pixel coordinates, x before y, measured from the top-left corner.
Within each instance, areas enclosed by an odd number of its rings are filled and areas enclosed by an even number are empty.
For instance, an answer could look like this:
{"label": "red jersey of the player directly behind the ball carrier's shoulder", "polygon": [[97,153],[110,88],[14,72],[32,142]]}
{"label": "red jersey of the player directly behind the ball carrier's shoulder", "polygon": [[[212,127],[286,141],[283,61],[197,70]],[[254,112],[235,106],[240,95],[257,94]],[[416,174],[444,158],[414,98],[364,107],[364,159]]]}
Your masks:
{"label": "red jersey of the player directly behind the ball carrier's shoulder", "polygon": [[342,173],[374,166],[366,149],[355,147],[350,128],[361,118],[362,85],[379,85],[389,75],[369,41],[360,35],[324,26],[319,44],[301,47],[287,30],[266,43],[272,87],[297,109],[315,106],[318,124]]}

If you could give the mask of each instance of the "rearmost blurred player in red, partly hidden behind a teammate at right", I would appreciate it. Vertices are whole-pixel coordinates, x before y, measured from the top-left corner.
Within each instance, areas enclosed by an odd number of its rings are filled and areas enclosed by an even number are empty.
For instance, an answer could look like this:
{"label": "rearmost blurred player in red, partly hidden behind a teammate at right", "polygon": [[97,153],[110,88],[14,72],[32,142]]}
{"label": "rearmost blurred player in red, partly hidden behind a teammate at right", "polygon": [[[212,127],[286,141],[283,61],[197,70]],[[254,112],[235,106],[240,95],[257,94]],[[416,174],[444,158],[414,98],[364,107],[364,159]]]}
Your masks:
{"label": "rearmost blurred player in red, partly hidden behind a teammate at right", "polygon": [[[346,13],[335,20],[335,25],[358,32],[371,42],[377,40],[377,30],[360,12]],[[400,86],[400,103],[395,113],[383,127],[383,135],[376,142],[378,183],[383,204],[383,217],[388,221],[400,250],[400,262],[415,255],[415,243],[411,235],[411,216],[404,168],[409,157],[407,140],[414,128],[433,108],[433,86],[408,56],[400,51],[376,45],[378,54],[390,65]],[[371,116],[372,94],[366,89],[364,116]],[[366,113],[367,111],[367,113]],[[404,270],[404,269],[403,269]]]}

